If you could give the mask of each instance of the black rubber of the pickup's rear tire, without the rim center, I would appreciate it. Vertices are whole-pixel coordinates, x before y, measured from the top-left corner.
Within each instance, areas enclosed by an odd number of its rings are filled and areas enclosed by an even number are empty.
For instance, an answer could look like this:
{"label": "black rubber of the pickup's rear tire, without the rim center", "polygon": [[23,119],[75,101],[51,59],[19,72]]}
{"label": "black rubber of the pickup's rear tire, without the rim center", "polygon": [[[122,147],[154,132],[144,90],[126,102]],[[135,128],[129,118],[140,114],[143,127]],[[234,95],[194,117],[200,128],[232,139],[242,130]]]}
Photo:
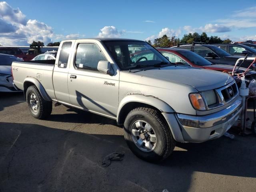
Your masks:
{"label": "black rubber of the pickup's rear tire, without the rim center", "polygon": [[[35,112],[30,105],[31,94],[36,95],[38,101],[38,110]],[[52,113],[52,102],[44,100],[36,86],[29,86],[26,91],[26,101],[28,109],[32,116],[36,119],[44,119]]]}

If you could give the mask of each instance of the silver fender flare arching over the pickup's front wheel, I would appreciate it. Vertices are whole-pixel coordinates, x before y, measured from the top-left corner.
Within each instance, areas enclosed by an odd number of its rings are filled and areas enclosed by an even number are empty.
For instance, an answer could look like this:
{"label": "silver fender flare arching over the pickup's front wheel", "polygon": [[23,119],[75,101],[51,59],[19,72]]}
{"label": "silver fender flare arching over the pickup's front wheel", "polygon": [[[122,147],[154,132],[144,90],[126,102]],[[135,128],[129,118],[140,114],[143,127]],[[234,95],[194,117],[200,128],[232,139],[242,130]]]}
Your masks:
{"label": "silver fender flare arching over the pickup's front wheel", "polygon": [[158,109],[160,112],[166,112],[166,113],[172,113],[174,110],[164,101],[154,97],[154,96],[145,96],[142,94],[131,94],[126,97],[124,97],[118,106],[117,111],[117,118],[116,122],[118,124],[122,124],[122,114],[124,110],[127,108],[127,106],[131,103],[141,103],[146,104],[149,106],[153,106],[154,108]]}

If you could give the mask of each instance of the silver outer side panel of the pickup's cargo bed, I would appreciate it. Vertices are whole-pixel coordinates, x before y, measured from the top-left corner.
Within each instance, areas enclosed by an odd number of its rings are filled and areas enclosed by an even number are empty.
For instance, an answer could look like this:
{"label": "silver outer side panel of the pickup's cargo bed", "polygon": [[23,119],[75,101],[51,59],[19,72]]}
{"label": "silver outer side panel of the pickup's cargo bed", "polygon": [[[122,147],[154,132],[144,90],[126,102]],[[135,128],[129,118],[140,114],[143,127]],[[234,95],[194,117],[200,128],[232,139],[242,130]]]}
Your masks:
{"label": "silver outer side panel of the pickup's cargo bed", "polygon": [[54,98],[54,88],[52,83],[52,73],[55,60],[35,60],[12,62],[12,74],[14,84],[24,90],[24,81],[27,79],[37,80],[42,84],[47,94]]}

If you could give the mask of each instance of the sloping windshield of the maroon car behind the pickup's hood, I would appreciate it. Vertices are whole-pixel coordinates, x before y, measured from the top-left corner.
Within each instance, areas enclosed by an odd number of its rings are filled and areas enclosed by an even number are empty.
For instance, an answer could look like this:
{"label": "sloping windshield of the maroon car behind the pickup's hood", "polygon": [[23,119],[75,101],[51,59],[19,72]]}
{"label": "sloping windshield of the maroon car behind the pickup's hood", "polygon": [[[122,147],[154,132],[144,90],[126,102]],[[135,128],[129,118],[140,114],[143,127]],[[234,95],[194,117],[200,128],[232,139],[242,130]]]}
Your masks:
{"label": "sloping windshield of the maroon car behind the pickup's hood", "polygon": [[182,54],[184,57],[186,57],[188,60],[190,60],[192,63],[198,66],[206,66],[206,65],[212,65],[210,61],[207,59],[201,57],[200,55],[187,50],[177,50],[179,54]]}

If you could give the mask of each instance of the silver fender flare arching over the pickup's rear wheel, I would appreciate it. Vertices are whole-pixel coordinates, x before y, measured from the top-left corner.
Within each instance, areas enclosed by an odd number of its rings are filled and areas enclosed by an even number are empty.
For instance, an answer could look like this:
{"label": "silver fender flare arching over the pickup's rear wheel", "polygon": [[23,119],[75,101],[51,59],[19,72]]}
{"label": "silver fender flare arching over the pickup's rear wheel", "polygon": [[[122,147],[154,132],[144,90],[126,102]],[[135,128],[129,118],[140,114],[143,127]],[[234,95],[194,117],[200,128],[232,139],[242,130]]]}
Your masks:
{"label": "silver fender flare arching over the pickup's rear wheel", "polygon": [[35,85],[37,87],[37,89],[39,90],[39,92],[42,95],[42,97],[44,98],[44,100],[52,101],[50,96],[48,96],[48,94],[46,93],[46,90],[44,89],[42,84],[36,78],[33,78],[33,77],[27,77],[27,78],[24,79],[23,90],[24,90],[25,100],[26,100],[26,90],[31,85]]}

